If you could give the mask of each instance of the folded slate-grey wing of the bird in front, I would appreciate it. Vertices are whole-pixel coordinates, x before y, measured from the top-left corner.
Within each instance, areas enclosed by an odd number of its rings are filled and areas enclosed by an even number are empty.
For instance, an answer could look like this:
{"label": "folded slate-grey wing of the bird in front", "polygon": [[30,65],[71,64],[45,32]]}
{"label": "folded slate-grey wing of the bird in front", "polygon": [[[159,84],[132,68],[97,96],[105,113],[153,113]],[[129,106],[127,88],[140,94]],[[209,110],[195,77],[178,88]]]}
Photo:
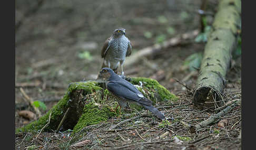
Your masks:
{"label": "folded slate-grey wing of the bird in front", "polygon": [[106,87],[111,93],[122,99],[129,99],[140,104],[152,105],[152,101],[144,98],[144,95],[130,82],[111,81],[106,84]]}

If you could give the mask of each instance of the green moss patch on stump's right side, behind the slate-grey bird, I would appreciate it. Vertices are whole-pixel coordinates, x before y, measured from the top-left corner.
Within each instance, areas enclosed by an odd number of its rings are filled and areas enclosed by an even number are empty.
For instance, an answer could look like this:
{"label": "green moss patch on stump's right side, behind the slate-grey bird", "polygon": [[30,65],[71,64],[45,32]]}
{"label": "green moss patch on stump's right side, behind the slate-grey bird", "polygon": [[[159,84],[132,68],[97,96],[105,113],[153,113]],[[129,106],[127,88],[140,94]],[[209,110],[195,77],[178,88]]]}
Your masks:
{"label": "green moss patch on stump's right side, behind the slate-grey bird", "polygon": [[178,100],[178,97],[176,97],[170,91],[165,89],[163,87],[163,85],[159,84],[159,82],[157,82],[154,79],[136,77],[136,78],[132,78],[131,83],[137,85],[137,84],[140,84],[140,81],[142,81],[143,87],[145,87],[151,93],[156,91],[159,94],[160,101],[167,101],[167,100],[176,101],[176,100]]}

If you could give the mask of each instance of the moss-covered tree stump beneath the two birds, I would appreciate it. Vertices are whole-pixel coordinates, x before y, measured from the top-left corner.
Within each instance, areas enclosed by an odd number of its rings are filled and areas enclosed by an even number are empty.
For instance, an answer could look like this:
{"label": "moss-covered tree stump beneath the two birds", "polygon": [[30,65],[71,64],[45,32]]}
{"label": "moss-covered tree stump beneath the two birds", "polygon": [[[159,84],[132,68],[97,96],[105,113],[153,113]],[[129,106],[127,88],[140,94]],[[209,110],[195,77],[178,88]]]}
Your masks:
{"label": "moss-covered tree stump beneath the two birds", "polygon": [[[143,84],[140,86],[140,81]],[[156,80],[148,78],[132,78],[131,83],[135,84],[137,89],[144,93],[145,97],[151,99],[154,104],[156,101],[175,101],[178,98],[166,90]],[[57,130],[66,110],[68,108],[66,119],[63,122],[63,130],[74,130],[74,133],[80,131],[83,127],[106,121],[119,113],[110,111],[117,102],[107,91],[103,91],[103,82],[87,81],[71,83],[64,97],[37,121],[34,121],[24,127],[18,128],[18,132],[38,131],[48,122],[50,113],[50,124],[44,129],[45,131]],[[102,99],[102,92],[104,97]],[[137,110],[142,109],[140,106],[133,106]]]}

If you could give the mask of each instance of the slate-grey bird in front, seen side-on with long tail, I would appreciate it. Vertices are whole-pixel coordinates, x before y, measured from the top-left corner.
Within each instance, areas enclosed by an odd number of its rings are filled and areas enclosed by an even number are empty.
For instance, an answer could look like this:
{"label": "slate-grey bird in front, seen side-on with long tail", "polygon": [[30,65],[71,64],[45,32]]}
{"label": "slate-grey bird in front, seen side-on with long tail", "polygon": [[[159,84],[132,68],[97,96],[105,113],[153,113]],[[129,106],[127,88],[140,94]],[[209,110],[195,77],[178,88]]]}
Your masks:
{"label": "slate-grey bird in front, seen side-on with long tail", "polygon": [[165,119],[163,113],[154,108],[151,100],[145,98],[132,83],[120,78],[112,69],[102,68],[98,78],[105,80],[106,89],[117,97],[117,102],[121,108],[125,108],[127,102],[132,102],[142,105],[159,119]]}

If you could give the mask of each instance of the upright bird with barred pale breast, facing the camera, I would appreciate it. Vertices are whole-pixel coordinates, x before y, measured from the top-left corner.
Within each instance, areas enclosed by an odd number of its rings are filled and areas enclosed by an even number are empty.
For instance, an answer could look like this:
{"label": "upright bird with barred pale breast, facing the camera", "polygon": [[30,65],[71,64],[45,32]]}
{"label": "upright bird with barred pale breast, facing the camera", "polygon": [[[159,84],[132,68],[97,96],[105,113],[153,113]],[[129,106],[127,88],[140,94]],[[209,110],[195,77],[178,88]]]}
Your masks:
{"label": "upright bird with barred pale breast, facing the camera", "polygon": [[125,57],[130,56],[131,52],[132,46],[130,40],[125,36],[125,29],[115,29],[113,35],[106,39],[101,50],[101,57],[104,59],[101,68],[111,68],[117,73],[120,64],[122,75],[124,75],[123,63]]}

